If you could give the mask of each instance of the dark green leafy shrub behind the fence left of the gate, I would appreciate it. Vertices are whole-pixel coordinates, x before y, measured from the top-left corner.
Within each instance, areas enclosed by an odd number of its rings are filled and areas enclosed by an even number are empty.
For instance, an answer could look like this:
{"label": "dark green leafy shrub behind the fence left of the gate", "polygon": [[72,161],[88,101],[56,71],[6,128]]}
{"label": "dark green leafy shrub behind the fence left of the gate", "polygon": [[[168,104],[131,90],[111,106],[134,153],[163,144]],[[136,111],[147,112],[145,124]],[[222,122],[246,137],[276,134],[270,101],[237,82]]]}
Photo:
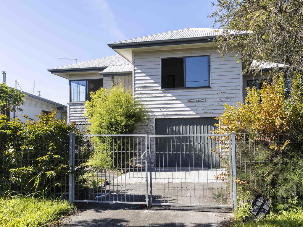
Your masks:
{"label": "dark green leafy shrub behind the fence left of the gate", "polygon": [[[69,133],[73,125],[56,120],[55,111],[37,117],[35,121],[25,116],[27,120],[22,123],[0,115],[0,181],[14,191],[47,190],[60,196],[68,189]],[[82,137],[76,140],[75,165],[79,166],[79,160],[85,162],[90,150],[88,141]]]}

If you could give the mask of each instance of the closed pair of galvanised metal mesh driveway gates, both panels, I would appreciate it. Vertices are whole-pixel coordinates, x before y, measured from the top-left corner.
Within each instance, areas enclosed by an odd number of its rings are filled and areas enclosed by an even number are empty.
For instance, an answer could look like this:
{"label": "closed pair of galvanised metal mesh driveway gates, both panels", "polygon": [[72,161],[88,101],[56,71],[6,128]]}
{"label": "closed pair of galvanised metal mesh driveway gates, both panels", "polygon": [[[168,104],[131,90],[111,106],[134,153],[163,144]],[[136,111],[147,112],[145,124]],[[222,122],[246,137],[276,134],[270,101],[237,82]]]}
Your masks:
{"label": "closed pair of galvanised metal mesh driveway gates, both panels", "polygon": [[229,134],[71,140],[71,201],[232,207]]}

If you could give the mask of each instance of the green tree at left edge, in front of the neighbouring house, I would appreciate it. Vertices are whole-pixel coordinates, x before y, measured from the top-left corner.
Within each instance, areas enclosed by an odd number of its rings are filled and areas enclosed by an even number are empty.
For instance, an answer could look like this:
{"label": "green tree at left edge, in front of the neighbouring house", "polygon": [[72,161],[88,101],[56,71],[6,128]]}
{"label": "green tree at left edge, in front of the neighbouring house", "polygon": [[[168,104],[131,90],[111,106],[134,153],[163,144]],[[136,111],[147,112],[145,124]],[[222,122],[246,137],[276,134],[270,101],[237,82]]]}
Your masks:
{"label": "green tree at left edge, in front of the neighbouring house", "polygon": [[7,115],[11,111],[21,110],[24,104],[25,94],[15,88],[8,87],[5,83],[0,84],[0,114]]}

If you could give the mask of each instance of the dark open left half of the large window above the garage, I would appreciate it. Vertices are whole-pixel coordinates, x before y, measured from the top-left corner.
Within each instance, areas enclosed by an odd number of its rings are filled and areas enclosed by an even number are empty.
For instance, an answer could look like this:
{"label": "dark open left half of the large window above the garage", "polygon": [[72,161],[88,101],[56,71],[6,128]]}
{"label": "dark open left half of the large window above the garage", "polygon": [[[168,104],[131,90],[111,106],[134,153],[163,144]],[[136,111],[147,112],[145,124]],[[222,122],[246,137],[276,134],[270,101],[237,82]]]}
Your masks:
{"label": "dark open left half of the large window above the garage", "polygon": [[162,67],[162,87],[184,87],[184,59],[183,58],[163,58]]}

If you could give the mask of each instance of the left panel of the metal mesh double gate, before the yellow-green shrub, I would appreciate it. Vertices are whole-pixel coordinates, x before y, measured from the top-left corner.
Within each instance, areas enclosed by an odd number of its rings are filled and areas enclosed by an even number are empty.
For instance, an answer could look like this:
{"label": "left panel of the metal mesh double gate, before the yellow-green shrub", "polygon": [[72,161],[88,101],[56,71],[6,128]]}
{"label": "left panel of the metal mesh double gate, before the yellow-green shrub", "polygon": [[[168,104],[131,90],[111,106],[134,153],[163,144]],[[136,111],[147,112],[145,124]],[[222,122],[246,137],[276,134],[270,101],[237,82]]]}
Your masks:
{"label": "left panel of the metal mesh double gate, before the yellow-green shrub", "polygon": [[148,202],[146,135],[76,135],[87,141],[89,156],[77,156],[74,201]]}

